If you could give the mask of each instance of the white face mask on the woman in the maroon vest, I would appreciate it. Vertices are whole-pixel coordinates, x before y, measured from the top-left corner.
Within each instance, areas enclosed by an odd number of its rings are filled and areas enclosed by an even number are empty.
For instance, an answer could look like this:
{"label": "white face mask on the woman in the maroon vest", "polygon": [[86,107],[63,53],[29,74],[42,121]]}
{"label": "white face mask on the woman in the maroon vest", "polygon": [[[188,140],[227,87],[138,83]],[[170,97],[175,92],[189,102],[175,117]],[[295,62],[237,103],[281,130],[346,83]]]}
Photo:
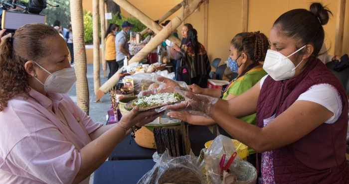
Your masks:
{"label": "white face mask on the woman in the maroon vest", "polygon": [[295,75],[296,68],[303,62],[303,60],[297,66],[295,66],[292,63],[292,61],[288,59],[288,57],[302,50],[305,46],[298,49],[296,52],[292,53],[287,57],[282,55],[280,52],[269,49],[265,56],[263,69],[275,81],[281,81],[292,78]]}

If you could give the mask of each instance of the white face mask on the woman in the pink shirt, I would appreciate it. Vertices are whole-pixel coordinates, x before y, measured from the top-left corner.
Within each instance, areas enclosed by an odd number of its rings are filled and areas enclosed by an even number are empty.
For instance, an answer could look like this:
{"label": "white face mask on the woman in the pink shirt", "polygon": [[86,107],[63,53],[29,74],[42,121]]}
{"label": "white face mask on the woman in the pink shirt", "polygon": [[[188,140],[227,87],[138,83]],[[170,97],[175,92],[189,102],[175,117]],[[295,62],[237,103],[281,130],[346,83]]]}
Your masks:
{"label": "white face mask on the woman in the pink shirt", "polygon": [[68,93],[76,82],[74,68],[65,68],[51,74],[39,64],[36,63],[36,65],[50,74],[47,77],[45,84],[41,83],[41,81],[35,77],[35,79],[44,86],[45,92]]}

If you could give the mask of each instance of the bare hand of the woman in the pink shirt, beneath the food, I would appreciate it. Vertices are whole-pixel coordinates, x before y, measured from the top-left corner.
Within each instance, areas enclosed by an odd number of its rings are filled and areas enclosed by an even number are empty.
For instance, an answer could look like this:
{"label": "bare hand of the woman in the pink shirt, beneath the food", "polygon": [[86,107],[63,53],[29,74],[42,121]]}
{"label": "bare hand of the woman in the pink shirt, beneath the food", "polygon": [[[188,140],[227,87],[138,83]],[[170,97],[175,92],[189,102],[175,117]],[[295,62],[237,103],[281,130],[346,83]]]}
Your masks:
{"label": "bare hand of the woman in the pink shirt, beneath the food", "polygon": [[135,106],[129,113],[125,114],[121,119],[120,123],[125,125],[127,129],[136,125],[141,127],[147,123],[154,121],[157,117],[164,114],[164,112],[156,112],[154,110],[146,112],[138,112],[139,107]]}

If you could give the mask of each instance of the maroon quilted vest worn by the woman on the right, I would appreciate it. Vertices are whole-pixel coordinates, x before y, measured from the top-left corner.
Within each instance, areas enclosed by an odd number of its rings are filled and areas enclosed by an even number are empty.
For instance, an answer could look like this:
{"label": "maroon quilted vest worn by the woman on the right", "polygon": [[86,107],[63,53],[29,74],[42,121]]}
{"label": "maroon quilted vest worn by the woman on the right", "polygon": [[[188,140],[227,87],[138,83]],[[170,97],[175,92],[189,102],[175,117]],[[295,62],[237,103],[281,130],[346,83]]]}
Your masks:
{"label": "maroon quilted vest worn by the woman on the right", "polygon": [[[278,116],[300,94],[316,84],[330,84],[340,92],[342,114],[335,123],[323,123],[300,140],[273,150],[274,178],[277,184],[349,183],[349,168],[345,156],[347,93],[336,76],[320,60],[310,62],[299,76],[291,80],[274,81],[270,76],[265,79],[258,98],[257,126],[263,127],[263,119],[274,113]],[[257,170],[258,165],[257,162]]]}

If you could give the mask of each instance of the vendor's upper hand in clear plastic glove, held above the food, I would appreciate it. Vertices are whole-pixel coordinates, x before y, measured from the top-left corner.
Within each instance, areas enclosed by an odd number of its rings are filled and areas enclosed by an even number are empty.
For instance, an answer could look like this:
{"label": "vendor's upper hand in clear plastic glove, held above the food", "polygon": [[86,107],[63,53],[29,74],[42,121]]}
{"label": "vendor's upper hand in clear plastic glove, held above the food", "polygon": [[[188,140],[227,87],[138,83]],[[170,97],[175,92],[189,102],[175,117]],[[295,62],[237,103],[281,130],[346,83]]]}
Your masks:
{"label": "vendor's upper hand in clear plastic glove, held above the food", "polygon": [[140,92],[138,97],[145,96],[147,94],[157,94],[162,92],[175,92],[174,88],[180,88],[185,91],[189,91],[188,86],[182,81],[174,81],[165,77],[158,77],[157,81],[160,86],[157,89],[146,90]]}

